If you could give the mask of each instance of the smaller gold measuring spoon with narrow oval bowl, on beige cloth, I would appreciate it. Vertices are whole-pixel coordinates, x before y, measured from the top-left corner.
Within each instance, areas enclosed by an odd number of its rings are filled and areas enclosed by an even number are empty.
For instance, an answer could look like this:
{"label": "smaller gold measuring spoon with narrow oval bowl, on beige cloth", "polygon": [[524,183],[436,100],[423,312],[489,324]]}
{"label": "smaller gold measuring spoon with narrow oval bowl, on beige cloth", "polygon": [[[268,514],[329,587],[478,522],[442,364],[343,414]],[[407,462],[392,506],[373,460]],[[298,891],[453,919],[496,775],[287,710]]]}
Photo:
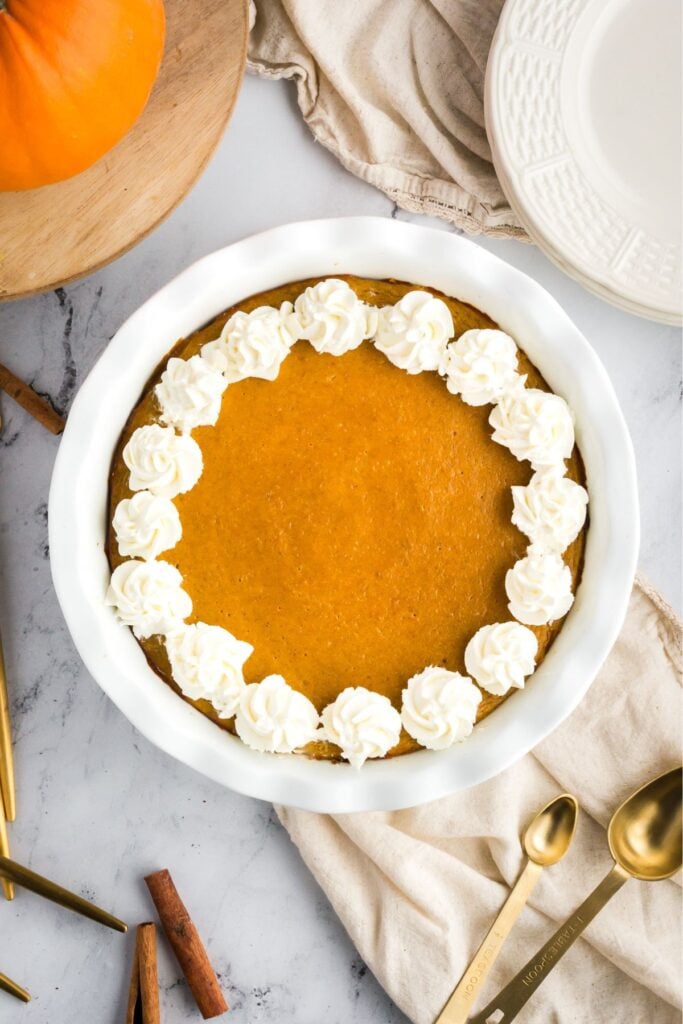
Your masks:
{"label": "smaller gold measuring spoon with narrow oval bowl, on beige cloth", "polygon": [[563,793],[546,804],[528,825],[522,838],[528,857],[524,869],[434,1024],[465,1024],[503,943],[541,878],[541,871],[556,864],[569,849],[578,814],[575,799]]}

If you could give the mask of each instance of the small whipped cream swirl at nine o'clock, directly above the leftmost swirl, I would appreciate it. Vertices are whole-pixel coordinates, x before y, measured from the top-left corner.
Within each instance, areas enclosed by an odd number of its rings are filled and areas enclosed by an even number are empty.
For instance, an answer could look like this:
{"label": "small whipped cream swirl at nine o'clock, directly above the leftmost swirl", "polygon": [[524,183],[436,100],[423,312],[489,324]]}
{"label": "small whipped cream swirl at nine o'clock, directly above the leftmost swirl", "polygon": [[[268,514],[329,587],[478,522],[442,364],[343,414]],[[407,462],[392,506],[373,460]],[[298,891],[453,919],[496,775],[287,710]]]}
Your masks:
{"label": "small whipped cream swirl at nine o'clock, directly above the leftmost swirl", "polygon": [[174,548],[182,536],[173,502],[150,490],[138,490],[119,502],[113,525],[120,553],[146,560]]}

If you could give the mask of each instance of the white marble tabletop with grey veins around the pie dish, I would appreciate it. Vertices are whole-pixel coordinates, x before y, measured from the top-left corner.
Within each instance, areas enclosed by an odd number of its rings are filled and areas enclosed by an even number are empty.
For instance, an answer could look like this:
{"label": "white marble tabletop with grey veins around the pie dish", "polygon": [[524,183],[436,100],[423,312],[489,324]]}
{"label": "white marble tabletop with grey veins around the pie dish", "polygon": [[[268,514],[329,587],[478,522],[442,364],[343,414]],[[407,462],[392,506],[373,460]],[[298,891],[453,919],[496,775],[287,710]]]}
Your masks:
{"label": "white marble tabletop with grey veins around the pie dish", "polygon": [[[273,156],[276,155],[276,156]],[[0,360],[67,411],[119,324],[197,257],[273,224],[397,212],[308,136],[285,84],[248,79],[191,195],[144,243],[55,293],[0,305]],[[444,227],[439,222],[436,226]],[[556,296],[604,360],[640,471],[641,567],[680,606],[680,336],[622,313],[530,246],[485,242]],[[79,662],[50,580],[46,501],[57,441],[6,397],[0,434],[0,622],[14,723],[17,859],[127,921],[150,915],[141,877],[168,865],[208,940],[236,1024],[398,1024],[272,810],[161,754]],[[123,1019],[131,943],[28,893],[0,905],[0,1022]],[[199,1019],[161,953],[166,1024]]]}

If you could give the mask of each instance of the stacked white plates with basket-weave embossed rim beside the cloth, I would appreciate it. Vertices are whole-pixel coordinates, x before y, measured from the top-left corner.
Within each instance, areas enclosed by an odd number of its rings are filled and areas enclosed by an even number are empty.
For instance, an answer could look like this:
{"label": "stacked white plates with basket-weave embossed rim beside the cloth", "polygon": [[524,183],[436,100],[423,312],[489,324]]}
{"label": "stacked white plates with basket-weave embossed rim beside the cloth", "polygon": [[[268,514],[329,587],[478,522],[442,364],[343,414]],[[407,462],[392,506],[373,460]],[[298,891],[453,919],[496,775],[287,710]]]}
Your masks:
{"label": "stacked white plates with basket-weave embossed rim beside the cloth", "polygon": [[591,291],[683,318],[680,0],[508,0],[486,69],[503,189]]}

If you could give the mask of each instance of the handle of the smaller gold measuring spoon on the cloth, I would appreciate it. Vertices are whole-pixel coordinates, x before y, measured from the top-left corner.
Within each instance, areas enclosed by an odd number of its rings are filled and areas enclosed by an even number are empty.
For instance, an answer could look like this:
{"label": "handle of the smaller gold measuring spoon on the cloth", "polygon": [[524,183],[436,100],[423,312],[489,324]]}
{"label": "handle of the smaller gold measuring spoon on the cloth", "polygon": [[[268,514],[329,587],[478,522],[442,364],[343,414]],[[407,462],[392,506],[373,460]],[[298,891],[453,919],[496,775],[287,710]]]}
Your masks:
{"label": "handle of the smaller gold measuring spoon on the cloth", "polygon": [[541,878],[541,864],[527,860],[501,911],[434,1024],[466,1024],[472,1004],[488,977],[503,943]]}

